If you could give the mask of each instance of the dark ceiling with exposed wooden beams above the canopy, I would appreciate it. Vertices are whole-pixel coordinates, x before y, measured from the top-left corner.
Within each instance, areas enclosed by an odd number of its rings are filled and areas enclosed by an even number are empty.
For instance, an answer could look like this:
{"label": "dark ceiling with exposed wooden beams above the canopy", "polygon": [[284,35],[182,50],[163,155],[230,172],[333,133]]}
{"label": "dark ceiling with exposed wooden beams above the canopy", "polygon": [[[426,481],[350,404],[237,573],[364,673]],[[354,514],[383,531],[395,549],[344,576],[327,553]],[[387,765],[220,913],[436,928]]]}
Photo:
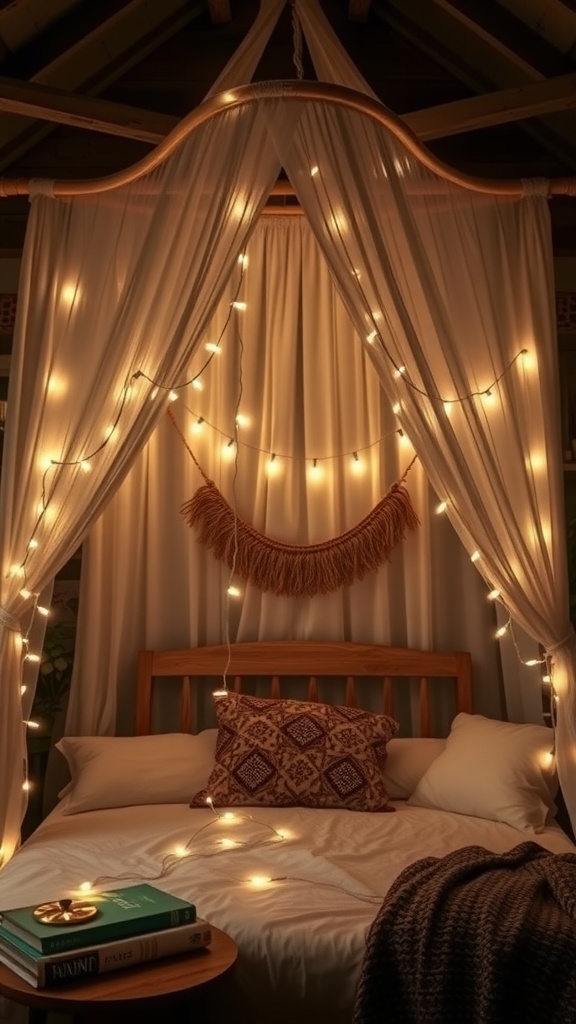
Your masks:
{"label": "dark ceiling with exposed wooden beams above the canopy", "polygon": [[[265,0],[264,0],[265,2]],[[575,0],[322,0],[379,98],[468,173],[576,175]],[[99,176],[149,153],[205,96],[257,0],[0,0],[0,175]],[[314,72],[304,50],[304,77]],[[255,79],[295,78],[287,3]],[[576,198],[550,201],[576,255]],[[0,254],[28,201],[0,202]]]}

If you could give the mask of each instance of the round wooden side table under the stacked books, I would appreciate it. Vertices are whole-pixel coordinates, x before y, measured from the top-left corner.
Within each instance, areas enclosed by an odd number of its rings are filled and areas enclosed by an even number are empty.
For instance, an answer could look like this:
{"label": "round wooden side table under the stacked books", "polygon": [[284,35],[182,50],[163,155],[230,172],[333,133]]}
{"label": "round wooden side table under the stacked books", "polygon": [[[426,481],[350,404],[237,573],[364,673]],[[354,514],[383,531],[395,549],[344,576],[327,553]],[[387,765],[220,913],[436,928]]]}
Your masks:
{"label": "round wooden side table under the stacked books", "polygon": [[[31,1024],[40,1024],[49,1012],[71,1014],[75,1024],[106,1021],[158,1021],[158,1010],[168,1002],[209,999],[212,982],[222,978],[236,963],[238,947],[230,935],[212,926],[206,949],[150,961],[124,968],[78,985],[33,988],[0,964],[0,994],[30,1008]],[[137,1016],[136,1016],[137,1015]]]}

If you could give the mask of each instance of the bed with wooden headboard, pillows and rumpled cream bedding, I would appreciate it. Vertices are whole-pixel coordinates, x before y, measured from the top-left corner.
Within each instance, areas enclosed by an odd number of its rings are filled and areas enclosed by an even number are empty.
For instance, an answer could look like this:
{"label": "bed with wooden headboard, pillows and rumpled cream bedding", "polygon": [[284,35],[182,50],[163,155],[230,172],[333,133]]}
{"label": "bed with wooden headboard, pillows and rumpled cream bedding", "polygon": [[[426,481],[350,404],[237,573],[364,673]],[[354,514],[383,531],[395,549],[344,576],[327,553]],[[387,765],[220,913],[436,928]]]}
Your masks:
{"label": "bed with wooden headboard, pillows and rumpled cream bedding", "polygon": [[[189,733],[227,663],[218,728]],[[175,731],[155,732],[170,688],[165,724]],[[404,735],[408,693],[417,737]],[[437,732],[443,693],[455,715],[447,739]],[[496,866],[530,847],[575,869],[576,848],[552,817],[551,730],[470,714],[465,652],[314,641],[142,651],[136,694],[135,735],[59,741],[71,782],[0,872],[0,905],[74,898],[81,886],[87,898],[84,883],[99,891],[120,880],[193,899],[239,946],[213,993],[217,1024],[307,1024],[320,1011],[349,1024],[369,929],[403,872],[427,863],[423,851],[444,863],[483,848]],[[370,742],[384,735],[380,762]],[[537,949],[530,957],[544,970]],[[365,1014],[367,979],[361,991]]]}

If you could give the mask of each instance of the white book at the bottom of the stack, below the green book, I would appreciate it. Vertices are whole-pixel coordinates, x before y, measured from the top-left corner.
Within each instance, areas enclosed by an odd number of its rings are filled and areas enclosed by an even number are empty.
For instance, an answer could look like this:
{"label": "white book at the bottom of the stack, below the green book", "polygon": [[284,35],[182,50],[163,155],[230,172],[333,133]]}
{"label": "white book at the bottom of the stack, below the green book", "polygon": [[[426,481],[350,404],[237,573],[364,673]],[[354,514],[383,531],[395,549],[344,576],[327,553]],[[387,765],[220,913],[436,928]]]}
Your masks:
{"label": "white book at the bottom of the stack, below the green book", "polygon": [[133,935],[81,949],[42,955],[0,927],[0,963],[34,988],[52,988],[111,971],[174,956],[210,945],[212,930],[198,918],[193,924]]}

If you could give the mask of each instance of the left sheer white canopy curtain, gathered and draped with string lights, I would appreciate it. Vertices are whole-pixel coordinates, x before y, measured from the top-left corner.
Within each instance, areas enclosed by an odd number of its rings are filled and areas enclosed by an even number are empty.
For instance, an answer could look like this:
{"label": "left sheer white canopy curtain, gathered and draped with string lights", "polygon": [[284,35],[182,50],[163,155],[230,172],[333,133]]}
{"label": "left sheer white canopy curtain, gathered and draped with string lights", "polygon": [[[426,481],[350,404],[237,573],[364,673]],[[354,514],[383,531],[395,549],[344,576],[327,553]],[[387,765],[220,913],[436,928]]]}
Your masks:
{"label": "left sheer white canopy curtain, gathered and draped with string lights", "polygon": [[[36,197],[27,231],[0,497],[0,822],[17,843],[19,629],[186,379],[278,174],[256,105],[204,125],[133,185]],[[151,381],[160,384],[158,390]],[[84,472],[84,470],[87,470]]]}

